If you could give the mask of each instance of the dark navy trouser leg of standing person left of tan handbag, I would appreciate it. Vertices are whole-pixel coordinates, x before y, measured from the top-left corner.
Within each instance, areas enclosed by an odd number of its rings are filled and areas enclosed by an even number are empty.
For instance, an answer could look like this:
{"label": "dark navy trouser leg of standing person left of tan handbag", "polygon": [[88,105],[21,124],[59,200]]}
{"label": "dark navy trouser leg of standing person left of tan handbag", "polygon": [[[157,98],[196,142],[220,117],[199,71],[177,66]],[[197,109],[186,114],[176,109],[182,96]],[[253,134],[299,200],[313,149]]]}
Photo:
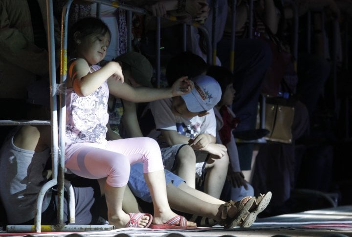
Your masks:
{"label": "dark navy trouser leg of standing person left of tan handbag", "polygon": [[[218,43],[218,56],[222,65],[229,67],[230,39]],[[236,39],[234,61],[234,88],[232,109],[241,123],[236,131],[255,129],[257,105],[264,75],[271,63],[271,49],[267,43],[256,39]]]}

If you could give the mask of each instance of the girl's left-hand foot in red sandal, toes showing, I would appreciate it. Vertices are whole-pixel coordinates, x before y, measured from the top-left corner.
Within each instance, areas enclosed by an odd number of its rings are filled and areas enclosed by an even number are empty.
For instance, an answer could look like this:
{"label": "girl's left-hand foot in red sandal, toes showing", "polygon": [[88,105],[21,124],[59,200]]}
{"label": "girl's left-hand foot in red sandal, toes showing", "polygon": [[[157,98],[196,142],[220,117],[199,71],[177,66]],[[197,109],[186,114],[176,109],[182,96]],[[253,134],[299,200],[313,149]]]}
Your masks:
{"label": "girl's left-hand foot in red sandal, toes showing", "polygon": [[[137,214],[134,214],[133,217],[130,217],[129,214],[125,213],[118,217],[109,218],[109,224],[114,225],[116,229],[124,228],[124,227],[145,228],[148,225],[149,220],[150,220],[149,215],[143,215],[141,217],[138,217]],[[135,221],[138,221],[138,223],[135,223]]]}

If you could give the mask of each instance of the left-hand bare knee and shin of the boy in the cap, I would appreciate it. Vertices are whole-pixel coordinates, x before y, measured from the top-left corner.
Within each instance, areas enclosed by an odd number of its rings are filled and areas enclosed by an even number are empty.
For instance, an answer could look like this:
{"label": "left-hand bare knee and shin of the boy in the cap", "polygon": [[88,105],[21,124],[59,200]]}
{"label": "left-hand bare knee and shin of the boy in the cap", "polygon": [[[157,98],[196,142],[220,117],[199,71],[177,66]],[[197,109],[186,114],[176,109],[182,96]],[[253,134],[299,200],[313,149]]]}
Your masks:
{"label": "left-hand bare knee and shin of the boy in the cap", "polygon": [[196,154],[192,147],[182,146],[176,155],[175,173],[196,188]]}

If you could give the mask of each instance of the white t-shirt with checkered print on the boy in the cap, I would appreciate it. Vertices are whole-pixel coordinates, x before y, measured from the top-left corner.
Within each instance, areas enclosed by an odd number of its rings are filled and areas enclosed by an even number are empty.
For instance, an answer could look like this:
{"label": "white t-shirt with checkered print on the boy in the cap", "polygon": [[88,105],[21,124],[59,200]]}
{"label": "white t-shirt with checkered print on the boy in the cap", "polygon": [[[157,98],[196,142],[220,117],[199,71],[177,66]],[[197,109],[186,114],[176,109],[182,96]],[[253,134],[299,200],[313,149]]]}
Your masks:
{"label": "white t-shirt with checkered print on the boy in the cap", "polygon": [[[216,118],[214,110],[209,110],[209,114],[191,119],[175,116],[171,110],[172,98],[152,101],[149,108],[152,111],[155,129],[175,130],[179,134],[193,138],[200,133],[206,133],[216,137]],[[156,139],[160,147],[167,146],[160,133],[151,132],[150,137]]]}

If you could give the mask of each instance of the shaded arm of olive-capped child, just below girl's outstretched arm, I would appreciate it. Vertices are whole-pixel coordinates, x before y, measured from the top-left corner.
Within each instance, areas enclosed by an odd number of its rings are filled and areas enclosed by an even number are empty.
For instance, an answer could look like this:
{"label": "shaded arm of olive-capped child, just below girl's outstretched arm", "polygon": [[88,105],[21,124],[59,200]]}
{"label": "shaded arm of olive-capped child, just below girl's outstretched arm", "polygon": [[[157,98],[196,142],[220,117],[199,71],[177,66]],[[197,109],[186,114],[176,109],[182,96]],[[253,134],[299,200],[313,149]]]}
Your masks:
{"label": "shaded arm of olive-capped child, just below girl's outstretched arm", "polygon": [[122,124],[128,137],[143,137],[137,118],[137,105],[126,100],[123,101],[123,105],[124,114],[122,116]]}

